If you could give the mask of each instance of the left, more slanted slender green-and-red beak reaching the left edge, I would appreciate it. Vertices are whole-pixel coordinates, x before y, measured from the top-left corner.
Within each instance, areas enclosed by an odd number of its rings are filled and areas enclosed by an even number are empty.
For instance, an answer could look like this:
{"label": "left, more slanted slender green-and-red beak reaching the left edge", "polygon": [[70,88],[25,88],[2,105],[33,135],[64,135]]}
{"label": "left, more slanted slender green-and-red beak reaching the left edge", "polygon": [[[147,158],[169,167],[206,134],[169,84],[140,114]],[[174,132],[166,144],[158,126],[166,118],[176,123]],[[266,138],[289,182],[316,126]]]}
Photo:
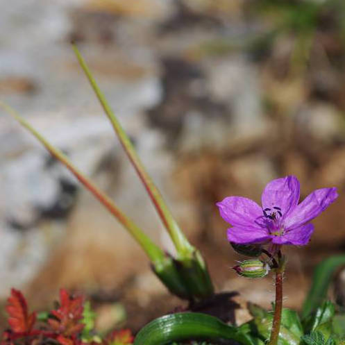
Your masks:
{"label": "left, more slanted slender green-and-red beak reaching the left edge", "polygon": [[42,144],[46,147],[46,149],[53,155],[53,157],[57,158],[62,162],[63,165],[71,171],[78,180],[83,183],[83,185],[87,188],[87,190],[90,190],[94,196],[96,196],[96,199],[99,200],[100,203],[102,203],[109,211],[110,213],[115,216],[115,218],[128,230],[128,232],[134,237],[134,239],[137,241],[137,243],[140,244],[146,255],[150,258],[150,260],[153,262],[153,264],[158,264],[158,262],[162,262],[165,260],[166,256],[165,253],[156,246],[149,237],[147,237],[142,230],[122,212],[115,203],[101,190],[99,190],[92,181],[87,178],[81,171],[79,171],[74,165],[69,161],[69,159],[64,155],[60,150],[53,147],[49,142],[40,135],[35,129],[28,124],[28,122],[23,119],[18,113],[12,109],[10,106],[6,105],[5,103],[0,101],[0,107],[6,110],[12,117],[14,117],[17,121],[19,121],[22,126],[24,126],[28,131],[30,131]]}

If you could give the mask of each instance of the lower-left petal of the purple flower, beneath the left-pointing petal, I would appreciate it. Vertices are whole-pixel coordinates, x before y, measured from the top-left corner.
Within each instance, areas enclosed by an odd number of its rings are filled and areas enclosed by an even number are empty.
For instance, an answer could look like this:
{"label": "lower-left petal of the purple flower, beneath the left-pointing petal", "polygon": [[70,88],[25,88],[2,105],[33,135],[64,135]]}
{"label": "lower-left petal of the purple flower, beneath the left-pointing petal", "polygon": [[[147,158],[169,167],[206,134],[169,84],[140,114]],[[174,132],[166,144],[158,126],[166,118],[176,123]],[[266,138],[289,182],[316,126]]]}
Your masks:
{"label": "lower-left petal of the purple flower, beneath the left-pointing petal", "polygon": [[271,235],[264,228],[228,228],[228,241],[237,244],[251,244],[267,242]]}

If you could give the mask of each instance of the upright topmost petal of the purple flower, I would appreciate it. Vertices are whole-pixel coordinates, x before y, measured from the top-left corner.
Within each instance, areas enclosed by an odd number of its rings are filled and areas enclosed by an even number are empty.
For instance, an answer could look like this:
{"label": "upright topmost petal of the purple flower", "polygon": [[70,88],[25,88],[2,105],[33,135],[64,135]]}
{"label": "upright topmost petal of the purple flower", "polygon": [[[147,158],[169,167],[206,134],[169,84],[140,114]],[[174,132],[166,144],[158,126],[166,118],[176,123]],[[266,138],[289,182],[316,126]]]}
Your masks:
{"label": "upright topmost petal of the purple flower", "polygon": [[262,209],[278,207],[283,217],[296,208],[299,200],[299,181],[296,176],[286,176],[272,180],[264,188],[261,201]]}

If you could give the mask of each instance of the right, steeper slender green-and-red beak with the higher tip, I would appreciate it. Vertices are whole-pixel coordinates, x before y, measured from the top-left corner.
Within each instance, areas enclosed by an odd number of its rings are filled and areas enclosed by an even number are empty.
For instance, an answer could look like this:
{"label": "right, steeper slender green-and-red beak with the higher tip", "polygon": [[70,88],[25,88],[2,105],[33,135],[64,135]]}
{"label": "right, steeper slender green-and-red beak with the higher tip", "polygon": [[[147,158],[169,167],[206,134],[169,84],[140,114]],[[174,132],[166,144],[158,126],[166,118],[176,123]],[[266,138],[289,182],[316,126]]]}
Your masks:
{"label": "right, steeper slender green-and-red beak with the higher tip", "polygon": [[146,191],[148,192],[151,201],[153,202],[153,205],[155,205],[155,209],[157,210],[160,219],[162,219],[165,228],[167,228],[169,235],[172,241],[174,242],[174,245],[176,246],[178,254],[182,257],[186,255],[190,257],[191,254],[194,252],[194,247],[190,245],[187,238],[180,230],[169,208],[163,200],[162,194],[160,194],[158,188],[155,186],[153,180],[144,168],[144,165],[142,165],[142,162],[138,157],[137,153],[135,152],[131,140],[129,140],[128,136],[126,135],[126,132],[121,127],[121,124],[119,124],[117,117],[115,117],[114,113],[112,112],[108,102],[106,101],[105,96],[103,96],[103,93],[96,84],[96,81],[94,80],[90,72],[90,69],[87,67],[85,60],[81,56],[81,53],[78,51],[78,48],[74,44],[72,44],[72,47],[74,49],[74,52],[76,53],[76,57],[78,58],[81,67],[83,68],[83,71],[87,76],[87,79],[90,82],[90,85],[92,86],[92,89],[94,90],[97,98],[99,99],[99,102],[103,107],[103,110],[106,112],[106,115],[108,116],[108,119],[110,120],[112,127],[115,130],[115,133],[119,137],[121,145],[124,147],[124,150],[126,151],[128,158],[131,160],[133,167],[137,171],[138,176],[142,180],[142,183],[144,183]]}

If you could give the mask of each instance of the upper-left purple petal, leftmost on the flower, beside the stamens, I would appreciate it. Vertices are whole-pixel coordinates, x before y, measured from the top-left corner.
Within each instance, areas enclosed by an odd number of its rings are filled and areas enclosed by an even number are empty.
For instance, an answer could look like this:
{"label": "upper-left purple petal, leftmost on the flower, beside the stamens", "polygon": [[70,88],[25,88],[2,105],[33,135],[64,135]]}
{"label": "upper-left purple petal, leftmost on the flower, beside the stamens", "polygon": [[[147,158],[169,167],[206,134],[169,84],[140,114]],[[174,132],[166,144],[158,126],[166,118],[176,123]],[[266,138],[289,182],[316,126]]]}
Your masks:
{"label": "upper-left purple petal, leftmost on the flower, beside the stamens", "polygon": [[255,201],[242,196],[228,196],[217,203],[217,206],[221,217],[233,226],[256,227],[255,219],[262,217],[260,206]]}

